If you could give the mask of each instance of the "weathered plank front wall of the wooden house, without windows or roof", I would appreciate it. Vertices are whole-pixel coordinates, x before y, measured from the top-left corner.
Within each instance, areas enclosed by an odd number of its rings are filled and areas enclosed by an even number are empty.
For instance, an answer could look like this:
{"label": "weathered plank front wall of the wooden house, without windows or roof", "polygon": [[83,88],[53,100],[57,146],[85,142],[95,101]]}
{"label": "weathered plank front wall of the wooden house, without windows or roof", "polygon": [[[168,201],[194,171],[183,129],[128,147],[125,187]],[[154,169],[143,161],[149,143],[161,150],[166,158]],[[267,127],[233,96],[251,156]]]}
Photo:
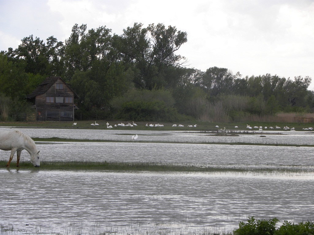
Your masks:
{"label": "weathered plank front wall of the wooden house, without windows or roof", "polygon": [[[63,89],[56,89],[55,84],[62,83]],[[74,101],[74,94],[71,89],[59,79],[54,85],[52,85],[45,94],[36,96],[35,105],[36,105],[36,115],[38,121],[72,121],[74,120],[74,104],[65,103],[65,97],[72,97]],[[54,97],[53,103],[47,103],[46,97]],[[63,97],[63,103],[56,103],[56,97]],[[59,112],[58,117],[47,117],[47,112]],[[65,117],[61,113],[72,112],[71,117]]]}

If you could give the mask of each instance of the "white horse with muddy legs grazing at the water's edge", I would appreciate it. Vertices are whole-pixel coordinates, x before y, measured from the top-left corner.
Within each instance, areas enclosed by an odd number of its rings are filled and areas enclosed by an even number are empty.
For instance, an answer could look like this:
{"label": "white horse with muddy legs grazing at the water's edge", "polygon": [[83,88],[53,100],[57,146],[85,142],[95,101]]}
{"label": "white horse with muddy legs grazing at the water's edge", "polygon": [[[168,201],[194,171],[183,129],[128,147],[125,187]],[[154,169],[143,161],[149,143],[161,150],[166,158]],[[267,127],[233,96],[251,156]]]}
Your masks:
{"label": "white horse with muddy legs grazing at the water's edge", "polygon": [[9,151],[11,150],[10,159],[7,163],[7,167],[13,159],[15,152],[17,153],[16,167],[19,167],[19,159],[23,149],[26,149],[30,154],[30,161],[35,167],[40,166],[39,151],[36,148],[35,142],[26,134],[14,130],[14,131],[2,131],[0,130],[0,149]]}

